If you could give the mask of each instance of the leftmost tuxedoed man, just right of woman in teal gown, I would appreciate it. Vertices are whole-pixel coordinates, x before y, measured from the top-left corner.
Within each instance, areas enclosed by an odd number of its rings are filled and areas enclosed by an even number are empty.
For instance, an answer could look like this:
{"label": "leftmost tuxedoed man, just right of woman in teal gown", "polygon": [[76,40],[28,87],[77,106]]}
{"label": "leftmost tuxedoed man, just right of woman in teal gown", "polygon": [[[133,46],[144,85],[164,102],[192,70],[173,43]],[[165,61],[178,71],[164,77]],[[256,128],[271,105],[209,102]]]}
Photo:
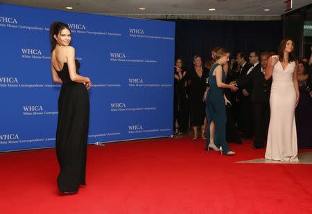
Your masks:
{"label": "leftmost tuxedoed man, just right of woman in teal gown", "polygon": [[[239,52],[236,55],[236,61],[237,64],[241,67],[241,69],[236,73],[236,79],[242,78],[245,75],[247,75],[248,71],[252,67],[252,64],[246,62],[245,53]],[[245,87],[248,87],[246,85]],[[244,139],[250,139],[251,138],[251,122],[250,122],[250,106],[249,104],[249,98],[248,94],[245,93],[245,89],[239,89],[236,91],[236,98],[237,101],[236,105],[234,105],[234,111],[236,112],[236,121],[237,125],[239,127],[239,130],[243,131]]]}

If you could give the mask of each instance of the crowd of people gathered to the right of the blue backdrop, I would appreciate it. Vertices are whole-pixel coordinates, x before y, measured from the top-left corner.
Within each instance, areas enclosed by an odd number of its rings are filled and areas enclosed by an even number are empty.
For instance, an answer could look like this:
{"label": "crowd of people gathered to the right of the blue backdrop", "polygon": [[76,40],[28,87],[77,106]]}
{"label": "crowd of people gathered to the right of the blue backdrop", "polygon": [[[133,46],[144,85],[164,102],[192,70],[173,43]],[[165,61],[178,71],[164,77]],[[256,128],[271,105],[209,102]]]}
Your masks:
{"label": "crowd of people gathered to the right of the blue backdrop", "polygon": [[[254,149],[267,144],[268,159],[297,160],[297,147],[312,148],[312,54],[299,60],[293,50],[293,41],[284,39],[276,52],[230,57],[216,46],[211,60],[203,63],[195,55],[189,67],[177,58],[175,136],[191,127],[193,140],[207,141],[206,150],[232,155],[227,142],[247,139]],[[290,145],[287,157],[275,154],[275,147],[284,146],[279,142]]]}

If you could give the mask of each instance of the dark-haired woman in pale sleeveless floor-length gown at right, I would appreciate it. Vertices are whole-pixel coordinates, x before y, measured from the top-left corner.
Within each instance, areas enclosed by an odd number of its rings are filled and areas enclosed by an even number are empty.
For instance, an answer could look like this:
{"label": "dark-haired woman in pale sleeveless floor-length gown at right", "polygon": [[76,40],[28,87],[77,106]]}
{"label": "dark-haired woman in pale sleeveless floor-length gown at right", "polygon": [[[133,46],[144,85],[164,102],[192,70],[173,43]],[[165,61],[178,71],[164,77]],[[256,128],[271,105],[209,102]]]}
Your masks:
{"label": "dark-haired woman in pale sleeveless floor-length gown at right", "polygon": [[293,40],[282,40],[278,55],[269,58],[265,73],[266,80],[271,76],[273,78],[265,157],[275,161],[298,161],[295,108],[299,100],[299,88],[293,50]]}

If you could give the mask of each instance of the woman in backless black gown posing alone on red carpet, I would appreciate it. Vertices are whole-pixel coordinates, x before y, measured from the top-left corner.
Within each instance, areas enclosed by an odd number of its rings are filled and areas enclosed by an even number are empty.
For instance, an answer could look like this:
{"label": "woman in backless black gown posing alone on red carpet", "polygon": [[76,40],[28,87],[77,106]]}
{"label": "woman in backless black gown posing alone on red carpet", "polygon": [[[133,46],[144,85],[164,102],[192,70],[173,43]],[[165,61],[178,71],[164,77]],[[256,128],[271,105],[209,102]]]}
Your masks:
{"label": "woman in backless black gown posing alone on red carpet", "polygon": [[54,22],[50,27],[51,70],[54,82],[62,83],[58,98],[58,127],[55,148],[60,165],[58,188],[62,193],[77,193],[85,185],[87,136],[89,130],[89,78],[78,74],[80,64],[75,49],[69,46],[71,30]]}

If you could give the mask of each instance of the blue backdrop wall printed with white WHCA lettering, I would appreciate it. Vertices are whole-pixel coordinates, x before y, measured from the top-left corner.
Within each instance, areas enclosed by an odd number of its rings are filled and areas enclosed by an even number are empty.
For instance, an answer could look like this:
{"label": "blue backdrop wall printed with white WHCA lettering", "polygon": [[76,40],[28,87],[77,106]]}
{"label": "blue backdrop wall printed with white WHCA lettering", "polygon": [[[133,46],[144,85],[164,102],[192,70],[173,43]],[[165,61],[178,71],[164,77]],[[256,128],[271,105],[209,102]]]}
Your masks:
{"label": "blue backdrop wall printed with white WHCA lettering", "polygon": [[173,22],[0,4],[0,151],[55,146],[53,21],[69,24],[92,80],[88,143],[173,134]]}

